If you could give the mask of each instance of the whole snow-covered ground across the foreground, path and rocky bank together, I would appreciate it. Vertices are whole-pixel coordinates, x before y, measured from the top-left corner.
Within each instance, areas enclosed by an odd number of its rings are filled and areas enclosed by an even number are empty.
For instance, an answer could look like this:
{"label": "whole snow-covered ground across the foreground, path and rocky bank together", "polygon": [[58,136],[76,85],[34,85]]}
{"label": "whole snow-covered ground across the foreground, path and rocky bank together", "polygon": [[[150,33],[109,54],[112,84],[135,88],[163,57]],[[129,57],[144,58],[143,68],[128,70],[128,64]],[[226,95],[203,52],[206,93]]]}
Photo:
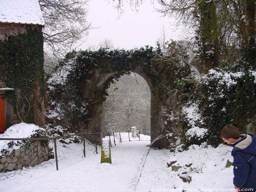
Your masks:
{"label": "whole snow-covered ground across the foreground, path and rocky bank together", "polygon": [[[188,151],[171,153],[168,150],[149,150],[149,136],[142,136],[143,141],[131,137],[131,142],[127,133],[121,133],[121,137],[123,142],[116,138],[116,145],[111,148],[112,164],[100,164],[100,149],[99,154],[95,154],[95,146],[89,142],[86,144],[86,158],[82,158],[82,144],[58,142],[58,171],[54,159],[51,159],[35,167],[2,173],[1,192],[173,191],[174,188],[179,191],[185,188],[187,191],[188,188],[218,191],[233,188],[232,167],[225,168],[227,159],[232,160],[229,146],[193,145]],[[178,172],[167,166],[167,162],[174,160],[177,161],[175,165],[181,166]],[[187,164],[191,165],[186,167]],[[184,172],[191,176],[190,183],[179,178]]]}

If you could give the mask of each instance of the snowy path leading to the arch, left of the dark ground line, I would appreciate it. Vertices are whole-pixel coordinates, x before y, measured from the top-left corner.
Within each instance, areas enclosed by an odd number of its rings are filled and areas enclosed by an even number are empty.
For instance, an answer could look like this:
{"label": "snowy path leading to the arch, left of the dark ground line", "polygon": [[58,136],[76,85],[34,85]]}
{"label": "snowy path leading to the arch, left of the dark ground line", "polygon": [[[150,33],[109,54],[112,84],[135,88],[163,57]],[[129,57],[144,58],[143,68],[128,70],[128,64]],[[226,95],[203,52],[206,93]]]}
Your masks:
{"label": "snowy path leading to the arch, left of the dark ground line", "polygon": [[100,154],[93,154],[93,146],[87,146],[87,157],[82,159],[81,145],[64,148],[58,143],[58,171],[52,159],[36,167],[0,174],[1,192],[134,191],[149,143],[118,143],[111,148],[112,164],[100,164]]}

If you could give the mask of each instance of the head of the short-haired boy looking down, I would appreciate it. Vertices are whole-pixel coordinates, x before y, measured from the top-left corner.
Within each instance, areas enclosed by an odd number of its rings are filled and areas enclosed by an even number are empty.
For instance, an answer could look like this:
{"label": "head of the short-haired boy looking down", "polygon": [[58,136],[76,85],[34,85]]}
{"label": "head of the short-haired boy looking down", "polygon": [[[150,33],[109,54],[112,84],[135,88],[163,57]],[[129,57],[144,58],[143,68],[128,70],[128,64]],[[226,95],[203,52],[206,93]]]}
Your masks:
{"label": "head of the short-haired boy looking down", "polygon": [[221,138],[228,144],[234,143],[240,138],[240,132],[234,125],[228,124],[221,131]]}

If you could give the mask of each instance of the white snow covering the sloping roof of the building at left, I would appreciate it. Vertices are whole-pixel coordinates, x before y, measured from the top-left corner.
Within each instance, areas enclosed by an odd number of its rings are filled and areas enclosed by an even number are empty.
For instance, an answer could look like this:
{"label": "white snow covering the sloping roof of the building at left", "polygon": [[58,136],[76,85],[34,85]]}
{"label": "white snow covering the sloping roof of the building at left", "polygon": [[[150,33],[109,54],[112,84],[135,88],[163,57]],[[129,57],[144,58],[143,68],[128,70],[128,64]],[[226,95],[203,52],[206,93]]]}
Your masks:
{"label": "white snow covering the sloping roof of the building at left", "polygon": [[0,0],[0,22],[45,25],[38,0]]}

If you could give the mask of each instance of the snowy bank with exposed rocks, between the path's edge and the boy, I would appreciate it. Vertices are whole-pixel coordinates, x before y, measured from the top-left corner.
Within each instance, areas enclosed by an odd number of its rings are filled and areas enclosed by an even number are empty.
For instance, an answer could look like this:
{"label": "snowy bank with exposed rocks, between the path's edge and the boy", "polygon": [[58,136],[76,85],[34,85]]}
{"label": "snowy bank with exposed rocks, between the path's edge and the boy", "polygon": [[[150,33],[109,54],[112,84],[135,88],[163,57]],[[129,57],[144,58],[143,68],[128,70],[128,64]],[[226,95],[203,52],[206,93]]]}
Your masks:
{"label": "snowy bank with exposed rocks, between the path's edge and the boy", "polygon": [[[232,167],[225,167],[227,159],[232,160],[230,151],[231,147],[224,145],[193,145],[178,153],[151,150],[136,191],[232,191]],[[181,166],[178,172],[167,166],[170,161]],[[191,182],[183,182],[182,175],[190,176]]]}

